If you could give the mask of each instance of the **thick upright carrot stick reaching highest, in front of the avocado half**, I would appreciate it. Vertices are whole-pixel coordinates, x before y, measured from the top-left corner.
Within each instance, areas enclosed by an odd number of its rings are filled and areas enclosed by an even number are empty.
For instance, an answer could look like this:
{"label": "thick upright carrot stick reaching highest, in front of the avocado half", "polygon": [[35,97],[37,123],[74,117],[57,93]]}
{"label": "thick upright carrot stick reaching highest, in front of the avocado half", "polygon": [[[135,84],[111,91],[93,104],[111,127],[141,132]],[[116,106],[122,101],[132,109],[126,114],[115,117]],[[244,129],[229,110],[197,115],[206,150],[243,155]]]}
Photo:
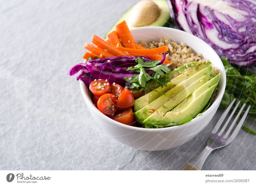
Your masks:
{"label": "thick upright carrot stick reaching highest, in front of the avocado half", "polygon": [[132,34],[125,20],[116,25],[116,34],[118,38],[121,40],[121,43],[123,44],[124,47],[136,49]]}

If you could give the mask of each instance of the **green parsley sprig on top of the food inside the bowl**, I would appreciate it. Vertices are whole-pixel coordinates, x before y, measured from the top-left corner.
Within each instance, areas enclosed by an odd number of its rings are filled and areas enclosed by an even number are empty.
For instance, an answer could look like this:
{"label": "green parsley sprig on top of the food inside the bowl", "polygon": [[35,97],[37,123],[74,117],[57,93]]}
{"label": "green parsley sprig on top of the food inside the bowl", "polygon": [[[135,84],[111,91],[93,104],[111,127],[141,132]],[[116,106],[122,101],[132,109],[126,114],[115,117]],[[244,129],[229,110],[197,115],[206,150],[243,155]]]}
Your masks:
{"label": "green parsley sprig on top of the food inside the bowl", "polygon": [[[170,81],[168,80],[167,76],[165,76],[165,74],[171,72],[171,70],[165,65],[158,65],[160,62],[159,60],[152,61],[152,62],[151,61],[143,62],[143,60],[138,57],[137,59],[135,59],[135,61],[138,63],[138,65],[135,65],[134,67],[129,67],[127,68],[127,70],[132,70],[140,74],[135,74],[129,78],[124,78],[125,81],[131,83],[131,85],[129,86],[130,89],[133,89],[133,88],[136,89],[133,91],[133,93],[149,88],[147,87],[147,82],[149,80],[156,81],[162,88],[166,86],[167,82]],[[153,74],[151,76],[147,74],[146,71],[148,70],[153,71]],[[155,89],[152,89],[152,90],[155,90]],[[158,92],[158,93],[161,93],[161,92]]]}

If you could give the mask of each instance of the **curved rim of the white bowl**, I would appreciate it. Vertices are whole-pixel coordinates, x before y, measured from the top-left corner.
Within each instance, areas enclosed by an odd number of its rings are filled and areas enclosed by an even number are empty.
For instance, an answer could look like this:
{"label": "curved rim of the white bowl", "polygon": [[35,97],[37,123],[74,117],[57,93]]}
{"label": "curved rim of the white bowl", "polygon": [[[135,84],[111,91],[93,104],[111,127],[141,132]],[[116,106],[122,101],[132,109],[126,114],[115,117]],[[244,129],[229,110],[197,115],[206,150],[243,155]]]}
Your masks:
{"label": "curved rim of the white bowl", "polygon": [[[170,31],[175,31],[175,32],[180,32],[182,34],[184,34],[184,37],[194,37],[195,39],[199,40],[201,43],[204,43],[208,48],[209,50],[211,50],[216,56],[218,56],[218,58],[220,59],[219,55],[216,53],[215,50],[213,50],[213,48],[206,42],[204,42],[202,39],[200,39],[199,37],[195,36],[195,35],[192,35],[188,32],[185,32],[183,30],[179,30],[179,29],[176,29],[176,28],[170,28],[170,27],[138,27],[138,28],[133,28],[131,29],[132,30],[147,30],[147,29],[154,29],[154,28],[161,28],[161,29],[167,29],[167,30],[170,30]],[[85,60],[86,61],[86,60]],[[220,62],[221,62],[221,59],[220,59]],[[202,118],[204,115],[206,115],[208,112],[212,112],[215,108],[218,108],[219,107],[219,104],[220,104],[220,101],[224,95],[224,91],[225,91],[225,88],[226,88],[226,72],[225,72],[225,68],[221,62],[221,67],[218,66],[218,68],[222,68],[224,69],[224,71],[221,73],[221,75],[224,75],[224,82],[222,83],[222,87],[219,87],[219,90],[218,90],[218,95],[216,97],[216,99],[214,100],[214,102],[212,103],[212,105],[201,115],[201,116],[198,116],[182,125],[176,125],[176,126],[172,126],[172,127],[165,127],[165,128],[141,128],[141,127],[134,127],[134,126],[131,126],[131,125],[125,125],[123,123],[120,123],[118,121],[115,121],[115,120],[112,120],[111,118],[109,118],[108,116],[106,116],[105,114],[103,114],[102,112],[99,111],[99,109],[97,109],[91,98],[90,98],[90,95],[89,95],[89,99],[87,99],[87,95],[86,95],[86,92],[84,91],[84,88],[87,89],[88,93],[89,93],[89,89],[86,87],[86,85],[84,84],[83,81],[79,80],[79,83],[80,83],[80,89],[81,89],[81,92],[82,92],[82,95],[84,97],[84,100],[86,102],[86,105],[87,103],[88,104],[91,104],[91,105],[87,105],[88,107],[90,107],[90,109],[93,109],[93,112],[95,111],[96,114],[100,114],[103,118],[105,117],[106,121],[108,122],[114,122],[114,124],[118,125],[118,127],[124,127],[124,128],[127,128],[127,129],[136,129],[136,130],[140,130],[140,131],[151,131],[151,132],[162,132],[162,131],[167,131],[167,130],[175,130],[176,128],[186,128],[188,124],[192,124],[192,123],[197,123],[196,121],[199,120],[200,118]],[[219,84],[218,84],[219,85]],[[215,115],[215,114],[214,114]]]}

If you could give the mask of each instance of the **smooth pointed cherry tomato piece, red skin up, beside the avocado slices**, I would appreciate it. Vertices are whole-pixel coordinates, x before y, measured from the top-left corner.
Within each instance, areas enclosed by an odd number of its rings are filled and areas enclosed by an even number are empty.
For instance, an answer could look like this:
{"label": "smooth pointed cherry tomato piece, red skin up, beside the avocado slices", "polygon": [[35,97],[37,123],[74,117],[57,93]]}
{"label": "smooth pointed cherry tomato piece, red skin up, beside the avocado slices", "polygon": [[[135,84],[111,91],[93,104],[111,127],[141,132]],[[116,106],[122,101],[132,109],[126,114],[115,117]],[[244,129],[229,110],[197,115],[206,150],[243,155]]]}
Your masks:
{"label": "smooth pointed cherry tomato piece, red skin up, beside the avocado slices", "polygon": [[132,93],[128,89],[124,89],[120,96],[117,99],[117,109],[118,110],[126,110],[128,108],[131,108],[134,105],[134,97],[132,96]]}

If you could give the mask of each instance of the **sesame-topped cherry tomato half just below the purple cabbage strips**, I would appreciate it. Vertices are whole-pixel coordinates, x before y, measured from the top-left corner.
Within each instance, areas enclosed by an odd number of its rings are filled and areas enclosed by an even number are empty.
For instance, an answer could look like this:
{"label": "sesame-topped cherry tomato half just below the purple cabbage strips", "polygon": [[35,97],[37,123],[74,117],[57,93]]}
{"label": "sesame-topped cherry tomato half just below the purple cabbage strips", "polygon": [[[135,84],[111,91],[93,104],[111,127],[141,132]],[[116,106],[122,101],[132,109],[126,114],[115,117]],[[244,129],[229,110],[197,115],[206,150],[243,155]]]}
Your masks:
{"label": "sesame-topped cherry tomato half just below the purple cabbage strips", "polygon": [[109,87],[108,80],[98,79],[91,82],[89,89],[95,96],[102,96],[108,93]]}

